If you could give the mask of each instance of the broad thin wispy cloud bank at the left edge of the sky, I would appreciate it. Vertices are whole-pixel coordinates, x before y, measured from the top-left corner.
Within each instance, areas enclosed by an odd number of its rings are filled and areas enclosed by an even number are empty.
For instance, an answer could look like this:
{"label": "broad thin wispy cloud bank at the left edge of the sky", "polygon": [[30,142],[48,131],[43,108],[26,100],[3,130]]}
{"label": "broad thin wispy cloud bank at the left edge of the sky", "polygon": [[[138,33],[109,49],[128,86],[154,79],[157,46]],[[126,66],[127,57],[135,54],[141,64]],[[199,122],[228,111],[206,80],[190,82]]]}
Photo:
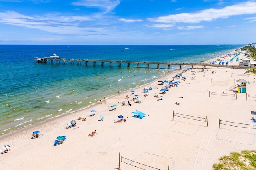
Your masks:
{"label": "broad thin wispy cloud bank at the left edge of the sky", "polygon": [[102,34],[104,32],[98,25],[86,24],[88,20],[91,20],[91,18],[87,16],[58,16],[58,14],[48,14],[48,16],[31,17],[13,11],[0,13],[0,23],[35,28],[47,32],[72,35]]}

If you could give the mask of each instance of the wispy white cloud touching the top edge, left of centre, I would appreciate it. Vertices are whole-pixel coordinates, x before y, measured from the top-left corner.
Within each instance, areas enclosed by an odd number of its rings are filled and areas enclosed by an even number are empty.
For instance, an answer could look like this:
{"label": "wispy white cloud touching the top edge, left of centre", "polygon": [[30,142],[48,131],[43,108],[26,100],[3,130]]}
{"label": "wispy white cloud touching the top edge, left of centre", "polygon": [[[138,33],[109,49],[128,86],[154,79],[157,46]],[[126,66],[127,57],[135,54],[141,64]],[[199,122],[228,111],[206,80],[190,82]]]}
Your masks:
{"label": "wispy white cloud touching the top edge, left of centre", "polygon": [[80,0],[73,2],[75,6],[86,6],[89,8],[99,8],[104,11],[104,14],[111,12],[120,4],[119,0]]}

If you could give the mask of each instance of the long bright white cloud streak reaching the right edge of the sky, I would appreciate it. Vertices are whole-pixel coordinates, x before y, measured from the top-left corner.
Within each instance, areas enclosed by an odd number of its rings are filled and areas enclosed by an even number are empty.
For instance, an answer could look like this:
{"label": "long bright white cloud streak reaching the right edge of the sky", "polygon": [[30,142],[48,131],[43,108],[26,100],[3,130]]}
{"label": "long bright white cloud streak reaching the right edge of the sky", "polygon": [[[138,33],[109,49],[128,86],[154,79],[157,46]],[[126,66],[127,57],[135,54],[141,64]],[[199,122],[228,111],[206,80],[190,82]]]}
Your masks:
{"label": "long bright white cloud streak reaching the right edge of the sky", "polygon": [[206,9],[199,12],[160,16],[158,18],[148,18],[148,20],[152,22],[164,23],[199,23],[202,21],[216,20],[218,18],[228,18],[230,16],[255,13],[256,2],[248,1],[232,6],[227,6],[222,9]]}

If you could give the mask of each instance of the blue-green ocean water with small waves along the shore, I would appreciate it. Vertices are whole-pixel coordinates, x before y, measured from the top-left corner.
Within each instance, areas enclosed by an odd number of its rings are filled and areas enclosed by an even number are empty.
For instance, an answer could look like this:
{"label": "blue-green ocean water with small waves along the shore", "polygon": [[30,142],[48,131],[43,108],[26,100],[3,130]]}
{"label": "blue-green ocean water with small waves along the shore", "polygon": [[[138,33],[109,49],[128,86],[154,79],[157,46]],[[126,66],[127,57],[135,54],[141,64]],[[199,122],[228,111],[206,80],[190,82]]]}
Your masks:
{"label": "blue-green ocean water with small waves along the shore", "polygon": [[[53,54],[67,59],[167,61],[200,63],[245,45],[0,45],[0,135],[72,113],[146,85],[178,69],[173,65],[113,63],[104,67],[34,63],[35,57]],[[6,106],[10,104],[10,106]],[[114,104],[114,103],[113,103]],[[14,108],[16,110],[14,111]],[[89,114],[89,113],[88,113]]]}

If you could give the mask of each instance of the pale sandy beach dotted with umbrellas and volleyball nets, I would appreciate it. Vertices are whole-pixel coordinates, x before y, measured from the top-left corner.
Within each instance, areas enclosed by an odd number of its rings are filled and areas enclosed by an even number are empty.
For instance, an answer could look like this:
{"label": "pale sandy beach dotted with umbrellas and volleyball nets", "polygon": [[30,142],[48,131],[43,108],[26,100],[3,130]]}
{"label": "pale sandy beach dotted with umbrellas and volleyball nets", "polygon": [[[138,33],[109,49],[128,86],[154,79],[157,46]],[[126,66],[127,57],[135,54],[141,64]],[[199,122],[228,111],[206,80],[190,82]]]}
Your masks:
{"label": "pale sandy beach dotted with umbrellas and volleyball nets", "polygon": [[[242,56],[243,53],[240,58]],[[226,61],[231,58],[224,57]],[[237,62],[230,64],[238,65]],[[165,94],[160,94],[166,83],[160,85],[158,81],[172,80],[180,72],[172,72],[146,85],[152,87],[148,96],[144,96],[144,86],[137,87],[132,89],[134,94],[131,91],[120,93],[106,99],[106,104],[96,104],[1,136],[0,144],[10,145],[10,151],[0,155],[0,169],[112,170],[118,168],[120,153],[121,170],[139,169],[136,166],[146,170],[168,170],[168,166],[172,170],[210,170],[221,156],[253,150],[256,144],[252,127],[256,123],[251,118],[256,117],[252,114],[256,111],[256,99],[246,95],[256,95],[255,76],[244,74],[246,69],[214,67],[202,71],[202,68],[194,68],[182,74],[186,80],[177,79],[178,87],[170,87]],[[250,81],[246,83],[247,94],[229,91],[238,84],[238,79]],[[155,93],[159,98],[154,97]],[[140,95],[141,103],[130,101],[136,94]],[[130,98],[125,99],[126,95]],[[128,101],[131,106],[127,105]],[[111,110],[114,104],[117,104],[116,110]],[[89,117],[91,110],[96,112]],[[132,111],[136,110],[147,116],[132,117]],[[174,117],[173,113],[176,113]],[[103,121],[98,121],[100,115],[104,116]],[[126,122],[114,123],[120,120],[119,115],[123,115]],[[86,121],[78,121],[78,117]],[[219,119],[223,124],[219,124]],[[71,120],[77,121],[76,126],[66,129]],[[224,125],[224,121],[251,128]],[[35,130],[40,131],[40,136],[31,139]],[[88,136],[94,130],[97,134]],[[66,140],[54,146],[57,136],[66,136]]]}

